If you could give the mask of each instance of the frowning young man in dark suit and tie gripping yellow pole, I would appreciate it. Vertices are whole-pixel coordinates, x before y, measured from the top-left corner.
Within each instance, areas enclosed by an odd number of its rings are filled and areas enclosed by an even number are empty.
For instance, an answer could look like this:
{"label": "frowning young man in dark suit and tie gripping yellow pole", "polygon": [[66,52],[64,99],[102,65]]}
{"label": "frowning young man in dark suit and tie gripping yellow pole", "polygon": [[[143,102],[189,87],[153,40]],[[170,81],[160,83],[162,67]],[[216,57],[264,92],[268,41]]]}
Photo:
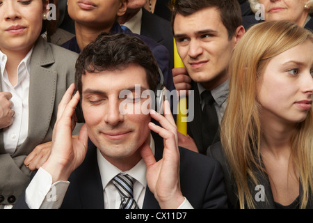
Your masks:
{"label": "frowning young man in dark suit and tie gripping yellow pole", "polygon": [[[245,32],[241,10],[236,0],[176,0],[173,8],[172,30],[185,66],[172,70],[174,84],[177,90],[193,90],[195,105],[188,135],[179,134],[179,145],[205,154],[218,140],[227,104],[228,63]],[[211,104],[202,93],[211,97]]]}

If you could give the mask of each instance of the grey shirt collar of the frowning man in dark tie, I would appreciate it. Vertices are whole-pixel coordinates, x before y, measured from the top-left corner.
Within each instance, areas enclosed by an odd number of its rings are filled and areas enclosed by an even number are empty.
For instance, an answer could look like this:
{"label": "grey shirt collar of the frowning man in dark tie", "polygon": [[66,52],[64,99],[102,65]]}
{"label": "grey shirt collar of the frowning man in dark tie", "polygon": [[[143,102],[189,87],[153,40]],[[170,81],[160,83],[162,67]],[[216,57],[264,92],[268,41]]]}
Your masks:
{"label": "grey shirt collar of the frowning man in dark tie", "polygon": [[[202,84],[197,83],[199,94],[206,89],[204,89],[204,86]],[[215,89],[211,90],[211,94],[218,106],[221,106],[225,100],[227,100],[228,91],[230,89],[230,79],[227,79],[223,84],[220,84],[220,86],[216,87]],[[201,97],[200,97],[200,103],[202,103]]]}

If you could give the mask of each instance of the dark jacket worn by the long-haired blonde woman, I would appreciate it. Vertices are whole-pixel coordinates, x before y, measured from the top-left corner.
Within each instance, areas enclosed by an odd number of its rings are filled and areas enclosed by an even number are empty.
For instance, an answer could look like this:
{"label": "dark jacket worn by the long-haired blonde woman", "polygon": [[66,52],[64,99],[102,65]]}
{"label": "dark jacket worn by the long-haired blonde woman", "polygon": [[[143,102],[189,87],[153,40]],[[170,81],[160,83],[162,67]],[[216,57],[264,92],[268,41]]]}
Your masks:
{"label": "dark jacket worn by the long-haired blonde woman", "polygon": [[[224,180],[225,180],[225,187],[228,197],[228,208],[239,208],[239,199],[236,195],[236,183],[234,182],[234,176],[232,175],[232,171],[230,170],[230,164],[227,162],[225,152],[223,149],[223,146],[221,142],[210,146],[207,150],[207,155],[211,158],[214,158],[215,160],[218,160],[220,164],[222,165],[223,171],[224,171]],[[272,190],[271,190],[271,184],[268,179],[268,176],[266,174],[262,174],[259,171],[255,172],[257,176],[257,182],[258,185],[262,185],[264,187],[264,201],[257,201],[255,199],[255,208],[256,209],[276,209],[275,201],[273,198]],[[252,197],[255,198],[255,196],[259,197],[260,192],[259,187],[256,188],[257,185],[255,183],[252,183],[252,180],[249,181],[249,187],[250,192],[252,194]],[[299,188],[299,197],[302,195],[302,189],[301,186]],[[310,201],[308,202],[307,209],[313,208],[313,201],[312,197],[310,198]]]}

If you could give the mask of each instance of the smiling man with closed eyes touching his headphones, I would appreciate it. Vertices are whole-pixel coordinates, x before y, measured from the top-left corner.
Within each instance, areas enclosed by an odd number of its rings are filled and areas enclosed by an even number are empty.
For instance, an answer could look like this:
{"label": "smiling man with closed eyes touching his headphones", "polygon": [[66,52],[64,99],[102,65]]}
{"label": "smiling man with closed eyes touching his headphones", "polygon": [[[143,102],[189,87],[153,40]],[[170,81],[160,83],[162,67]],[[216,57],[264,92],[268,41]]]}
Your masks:
{"label": "smiling man with closed eyes touching his headphones", "polygon": [[[79,93],[72,96],[74,86],[65,93],[51,155],[15,208],[125,208],[130,203],[133,208],[226,208],[218,162],[177,146],[168,101],[164,116],[150,109],[158,75],[149,47],[134,36],[102,33],[85,47],[76,66]],[[86,123],[75,139],[78,104]]]}

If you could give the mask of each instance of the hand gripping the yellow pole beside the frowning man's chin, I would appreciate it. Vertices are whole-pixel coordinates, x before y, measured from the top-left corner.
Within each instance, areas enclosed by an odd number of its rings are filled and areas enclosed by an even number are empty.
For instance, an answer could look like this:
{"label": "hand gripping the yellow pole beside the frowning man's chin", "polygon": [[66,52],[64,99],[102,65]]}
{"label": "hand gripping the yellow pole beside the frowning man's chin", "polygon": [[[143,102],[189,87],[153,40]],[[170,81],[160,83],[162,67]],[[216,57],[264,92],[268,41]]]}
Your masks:
{"label": "hand gripping the yellow pole beside the frowning man's chin", "polygon": [[188,90],[191,90],[191,77],[186,68],[172,68],[172,78],[179,96],[188,95]]}

